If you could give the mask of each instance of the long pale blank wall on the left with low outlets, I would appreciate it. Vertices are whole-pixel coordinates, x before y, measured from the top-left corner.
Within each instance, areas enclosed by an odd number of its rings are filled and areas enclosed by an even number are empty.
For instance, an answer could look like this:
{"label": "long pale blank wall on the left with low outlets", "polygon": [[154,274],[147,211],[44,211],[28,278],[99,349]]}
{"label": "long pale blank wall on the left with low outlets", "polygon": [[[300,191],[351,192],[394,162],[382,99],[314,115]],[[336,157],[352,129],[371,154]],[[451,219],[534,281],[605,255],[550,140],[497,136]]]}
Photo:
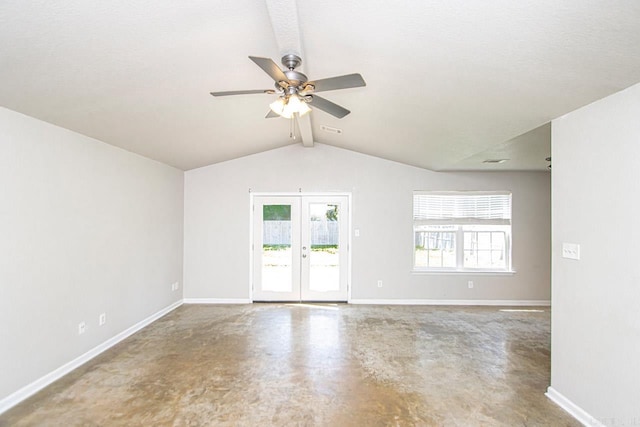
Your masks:
{"label": "long pale blank wall on the left with low outlets", "polygon": [[181,299],[183,176],[0,108],[0,401]]}

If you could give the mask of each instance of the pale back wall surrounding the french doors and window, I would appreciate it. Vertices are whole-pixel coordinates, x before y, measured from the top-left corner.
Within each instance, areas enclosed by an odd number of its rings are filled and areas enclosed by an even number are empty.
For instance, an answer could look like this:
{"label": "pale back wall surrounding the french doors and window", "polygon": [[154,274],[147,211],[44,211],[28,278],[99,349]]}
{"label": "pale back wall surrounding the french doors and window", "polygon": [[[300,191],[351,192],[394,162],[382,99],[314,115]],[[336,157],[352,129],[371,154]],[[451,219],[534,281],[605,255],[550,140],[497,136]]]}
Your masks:
{"label": "pale back wall surrounding the french doors and window", "polygon": [[[353,299],[550,299],[549,173],[436,173],[322,144],[185,173],[186,298],[249,298],[250,188],[352,193]],[[511,190],[517,273],[411,274],[413,190]]]}

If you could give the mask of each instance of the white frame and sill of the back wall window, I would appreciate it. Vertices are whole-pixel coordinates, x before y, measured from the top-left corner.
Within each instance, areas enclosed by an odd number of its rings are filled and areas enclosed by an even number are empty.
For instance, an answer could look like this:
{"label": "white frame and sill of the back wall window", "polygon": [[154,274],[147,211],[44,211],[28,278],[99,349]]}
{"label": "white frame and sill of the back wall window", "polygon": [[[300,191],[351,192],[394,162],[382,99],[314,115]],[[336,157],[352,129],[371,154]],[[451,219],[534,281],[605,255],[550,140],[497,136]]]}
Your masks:
{"label": "white frame and sill of the back wall window", "polygon": [[[416,196],[425,195],[425,196],[456,196],[460,197],[473,197],[480,196],[480,199],[483,196],[508,196],[508,214],[504,214],[506,218],[498,218],[498,219],[473,219],[473,218],[464,218],[464,219],[456,219],[456,218],[446,218],[443,220],[439,219],[430,219],[430,220],[419,220],[416,219]],[[468,202],[467,202],[468,203]],[[412,272],[413,273],[422,273],[422,274],[512,274],[514,273],[512,269],[512,246],[513,246],[513,223],[512,223],[512,212],[513,212],[513,194],[511,191],[414,191],[413,199],[412,199],[412,207],[413,207],[413,220],[412,220]],[[490,213],[491,215],[491,213]],[[455,247],[455,260],[456,265],[454,267],[429,267],[429,266],[417,266],[416,265],[416,255],[417,255],[417,246],[416,246],[416,233],[419,231],[419,227],[424,227],[428,225],[433,226],[452,226],[454,229],[443,229],[442,233],[453,233],[455,236],[454,247]],[[488,229],[487,232],[500,232],[505,235],[504,242],[504,268],[496,268],[496,267],[465,267],[464,266],[464,257],[465,257],[465,246],[464,246],[464,233],[465,232],[483,232],[485,230],[470,230],[468,227],[465,229],[465,226],[486,226]],[[491,230],[491,226],[496,226],[495,229]],[[505,226],[508,226],[508,229],[505,230]],[[434,227],[435,228],[435,227]],[[424,230],[423,232],[438,232],[437,230]],[[467,249],[468,250],[468,249]],[[484,250],[484,249],[483,249]],[[488,249],[491,252],[491,249]],[[441,254],[441,265],[443,263],[444,253]],[[427,254],[427,264],[428,264],[428,254]]]}

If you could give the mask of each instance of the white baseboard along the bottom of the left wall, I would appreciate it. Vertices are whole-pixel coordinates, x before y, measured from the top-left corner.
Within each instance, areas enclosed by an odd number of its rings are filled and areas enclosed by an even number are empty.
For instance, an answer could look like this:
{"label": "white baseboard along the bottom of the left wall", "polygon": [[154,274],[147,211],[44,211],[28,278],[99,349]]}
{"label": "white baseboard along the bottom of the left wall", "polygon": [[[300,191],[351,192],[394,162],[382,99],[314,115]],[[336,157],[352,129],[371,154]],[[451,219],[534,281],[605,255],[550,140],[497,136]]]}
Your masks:
{"label": "white baseboard along the bottom of the left wall", "polygon": [[170,306],[163,308],[162,310],[158,311],[157,313],[152,314],[151,316],[147,317],[144,320],[141,320],[140,322],[136,323],[135,325],[131,326],[130,328],[125,329],[124,331],[120,332],[119,334],[115,335],[114,337],[109,338],[107,341],[105,341],[102,344],[92,348],[91,350],[87,351],[83,355],[76,357],[72,361],[70,361],[68,363],[65,363],[64,365],[60,366],[59,368],[49,372],[48,374],[44,375],[41,378],[35,380],[31,384],[28,384],[28,385],[22,387],[21,389],[19,389],[18,391],[16,391],[16,392],[10,394],[9,396],[5,397],[4,399],[2,399],[0,401],[0,414],[2,414],[3,412],[6,412],[7,410],[11,409],[12,407],[17,405],[18,403],[22,402],[23,400],[27,399],[28,397],[30,397],[30,396],[34,395],[35,393],[39,392],[40,390],[42,390],[46,386],[50,385],[54,381],[59,380],[60,378],[62,378],[63,376],[67,375],[69,372],[73,371],[74,369],[77,369],[80,366],[84,365],[89,360],[91,360],[94,357],[98,356],[100,353],[103,353],[104,351],[106,351],[109,348],[113,347],[114,345],[118,344],[120,341],[128,338],[129,336],[131,336],[133,334],[135,334],[140,329],[144,328],[145,326],[150,325],[154,321],[158,320],[159,318],[161,318],[162,316],[166,315],[167,313],[175,310],[176,308],[180,307],[181,305],[182,305],[182,300],[176,301],[175,303],[171,304]]}

